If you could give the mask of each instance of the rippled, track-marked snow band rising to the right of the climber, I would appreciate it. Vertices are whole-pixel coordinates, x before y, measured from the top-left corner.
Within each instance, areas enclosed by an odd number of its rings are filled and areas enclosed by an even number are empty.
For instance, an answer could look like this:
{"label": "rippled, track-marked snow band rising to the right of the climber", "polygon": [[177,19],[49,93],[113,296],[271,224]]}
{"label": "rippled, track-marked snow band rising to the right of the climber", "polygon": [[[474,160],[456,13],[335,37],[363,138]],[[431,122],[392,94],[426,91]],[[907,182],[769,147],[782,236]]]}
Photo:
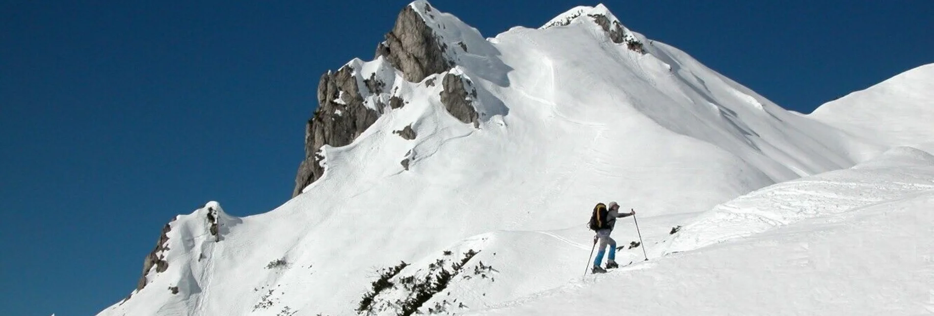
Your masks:
{"label": "rippled, track-marked snow band rising to the right of the climber", "polygon": [[934,156],[899,147],[849,169],[778,183],[718,205],[663,249],[694,250],[919,192],[934,192]]}

